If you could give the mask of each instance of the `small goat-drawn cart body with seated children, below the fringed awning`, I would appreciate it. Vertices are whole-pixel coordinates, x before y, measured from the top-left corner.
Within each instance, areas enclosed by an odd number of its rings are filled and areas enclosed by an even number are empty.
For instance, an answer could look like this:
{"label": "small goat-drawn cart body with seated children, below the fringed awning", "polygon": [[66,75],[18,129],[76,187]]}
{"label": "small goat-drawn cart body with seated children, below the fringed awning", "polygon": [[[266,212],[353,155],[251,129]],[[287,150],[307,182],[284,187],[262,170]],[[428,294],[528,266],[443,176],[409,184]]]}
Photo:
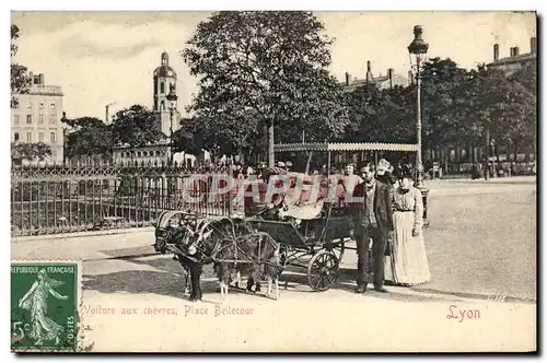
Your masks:
{"label": "small goat-drawn cart body with seated children, below the fringed awning", "polygon": [[[279,244],[282,270],[288,266],[303,268],[307,271],[309,285],[314,291],[326,291],[336,283],[346,243],[352,239],[350,211],[327,198],[328,176],[311,177],[272,168],[267,172],[267,179],[279,174],[286,174],[289,188],[274,195],[268,203],[267,183],[255,182],[259,199],[245,198],[245,223],[254,231],[267,233]],[[310,186],[313,184],[318,187],[316,199],[311,199]]]}

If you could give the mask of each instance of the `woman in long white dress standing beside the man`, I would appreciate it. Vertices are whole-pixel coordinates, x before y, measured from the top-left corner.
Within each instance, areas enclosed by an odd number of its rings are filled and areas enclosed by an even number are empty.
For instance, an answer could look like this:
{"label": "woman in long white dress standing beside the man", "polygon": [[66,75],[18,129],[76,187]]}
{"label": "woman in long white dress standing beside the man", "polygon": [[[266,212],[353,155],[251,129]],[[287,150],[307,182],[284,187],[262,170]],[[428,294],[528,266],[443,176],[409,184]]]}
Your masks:
{"label": "woman in long white dress standing beside the man", "polygon": [[407,176],[394,186],[392,254],[385,257],[385,280],[392,284],[416,285],[431,280],[423,241],[423,202],[419,189]]}

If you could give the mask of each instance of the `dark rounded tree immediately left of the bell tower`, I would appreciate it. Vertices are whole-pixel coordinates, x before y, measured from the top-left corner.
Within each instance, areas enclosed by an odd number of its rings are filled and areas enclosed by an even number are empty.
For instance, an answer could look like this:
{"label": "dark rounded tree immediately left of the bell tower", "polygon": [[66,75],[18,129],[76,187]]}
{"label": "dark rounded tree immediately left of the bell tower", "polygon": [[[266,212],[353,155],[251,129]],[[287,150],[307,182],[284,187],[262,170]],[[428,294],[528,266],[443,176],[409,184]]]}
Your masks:
{"label": "dark rounded tree immediately left of the bell tower", "polygon": [[154,143],[165,138],[152,110],[141,105],[118,110],[112,126],[114,145],[128,144],[131,149]]}

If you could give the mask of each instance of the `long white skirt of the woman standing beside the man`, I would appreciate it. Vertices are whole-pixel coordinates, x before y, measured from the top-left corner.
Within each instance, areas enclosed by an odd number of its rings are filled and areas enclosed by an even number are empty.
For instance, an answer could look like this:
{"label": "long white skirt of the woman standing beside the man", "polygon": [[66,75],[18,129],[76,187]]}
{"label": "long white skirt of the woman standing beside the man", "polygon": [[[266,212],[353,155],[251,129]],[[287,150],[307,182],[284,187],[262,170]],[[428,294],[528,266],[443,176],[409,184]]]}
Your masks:
{"label": "long white skirt of the woman standing beside the man", "polygon": [[395,234],[391,256],[385,257],[385,280],[416,285],[431,280],[423,232],[412,236],[414,212],[394,212]]}

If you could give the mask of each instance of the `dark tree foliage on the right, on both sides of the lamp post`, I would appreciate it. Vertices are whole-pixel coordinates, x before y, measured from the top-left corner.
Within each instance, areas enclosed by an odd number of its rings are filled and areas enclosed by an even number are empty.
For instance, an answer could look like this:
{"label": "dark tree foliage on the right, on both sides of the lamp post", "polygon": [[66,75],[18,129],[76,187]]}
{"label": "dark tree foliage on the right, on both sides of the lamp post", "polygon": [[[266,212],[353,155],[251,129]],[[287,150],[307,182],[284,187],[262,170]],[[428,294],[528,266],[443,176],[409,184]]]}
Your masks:
{"label": "dark tree foliage on the right, on both sides of the lamp post", "polygon": [[[424,148],[481,145],[488,130],[497,143],[533,144],[536,134],[536,68],[503,72],[458,67],[433,58],[421,72]],[[416,84],[379,91],[368,84],[348,95],[348,141],[416,142]]]}

